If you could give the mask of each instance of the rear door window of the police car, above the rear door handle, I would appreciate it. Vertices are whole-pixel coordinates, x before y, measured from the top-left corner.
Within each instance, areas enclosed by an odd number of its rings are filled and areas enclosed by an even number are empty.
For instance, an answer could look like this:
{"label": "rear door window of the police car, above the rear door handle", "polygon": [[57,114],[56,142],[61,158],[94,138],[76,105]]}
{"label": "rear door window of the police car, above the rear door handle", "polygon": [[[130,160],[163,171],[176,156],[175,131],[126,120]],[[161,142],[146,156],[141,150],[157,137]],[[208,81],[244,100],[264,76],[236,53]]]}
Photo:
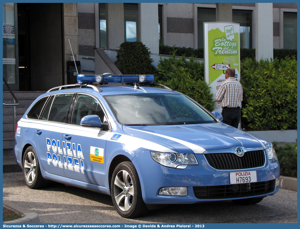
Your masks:
{"label": "rear door window of the police car, above the rear door handle", "polygon": [[48,120],[64,123],[73,94],[56,95],[52,103]]}

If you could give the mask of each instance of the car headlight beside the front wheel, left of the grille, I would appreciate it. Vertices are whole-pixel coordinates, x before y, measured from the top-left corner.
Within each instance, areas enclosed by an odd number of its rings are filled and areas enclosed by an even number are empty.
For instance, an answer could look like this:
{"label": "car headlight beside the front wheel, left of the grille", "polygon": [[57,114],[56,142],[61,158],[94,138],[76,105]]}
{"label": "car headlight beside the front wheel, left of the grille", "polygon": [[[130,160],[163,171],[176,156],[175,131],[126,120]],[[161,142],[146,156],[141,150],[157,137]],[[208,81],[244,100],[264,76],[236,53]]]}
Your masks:
{"label": "car headlight beside the front wheel, left of the grille", "polygon": [[162,153],[150,151],[153,160],[170,168],[186,168],[187,165],[198,165],[193,153]]}

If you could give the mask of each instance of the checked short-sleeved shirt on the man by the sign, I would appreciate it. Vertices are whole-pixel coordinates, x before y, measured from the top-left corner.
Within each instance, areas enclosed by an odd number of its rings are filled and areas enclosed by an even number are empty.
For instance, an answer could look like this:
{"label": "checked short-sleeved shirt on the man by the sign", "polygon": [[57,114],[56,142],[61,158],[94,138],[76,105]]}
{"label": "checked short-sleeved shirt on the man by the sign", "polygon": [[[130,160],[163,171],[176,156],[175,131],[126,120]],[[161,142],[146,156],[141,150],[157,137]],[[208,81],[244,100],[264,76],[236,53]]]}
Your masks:
{"label": "checked short-sleeved shirt on the man by the sign", "polygon": [[234,77],[229,77],[220,85],[215,98],[221,101],[221,107],[242,107],[243,87]]}

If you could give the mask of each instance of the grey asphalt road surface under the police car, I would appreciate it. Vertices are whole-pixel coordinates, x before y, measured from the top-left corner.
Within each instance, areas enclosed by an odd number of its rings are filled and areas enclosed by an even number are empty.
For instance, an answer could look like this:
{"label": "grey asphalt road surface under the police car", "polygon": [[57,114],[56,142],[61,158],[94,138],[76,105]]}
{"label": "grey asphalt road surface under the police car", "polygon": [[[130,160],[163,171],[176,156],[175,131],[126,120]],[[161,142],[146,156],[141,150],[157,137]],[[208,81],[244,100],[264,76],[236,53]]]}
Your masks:
{"label": "grey asphalt road surface under the police car", "polygon": [[171,205],[148,216],[125,219],[111,197],[63,184],[29,189],[22,172],[3,174],[3,198],[35,213],[41,223],[297,223],[297,192],[280,189],[255,205],[232,201]]}

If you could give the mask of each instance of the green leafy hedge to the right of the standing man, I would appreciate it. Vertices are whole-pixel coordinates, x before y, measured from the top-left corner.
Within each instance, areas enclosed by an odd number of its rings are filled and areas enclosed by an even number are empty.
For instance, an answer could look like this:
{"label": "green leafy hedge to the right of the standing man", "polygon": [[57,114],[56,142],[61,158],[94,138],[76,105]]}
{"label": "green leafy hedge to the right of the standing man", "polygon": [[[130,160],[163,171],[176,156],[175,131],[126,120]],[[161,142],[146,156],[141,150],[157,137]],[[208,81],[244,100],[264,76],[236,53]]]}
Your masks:
{"label": "green leafy hedge to the right of the standing man", "polygon": [[297,61],[241,62],[242,127],[248,130],[297,129]]}

